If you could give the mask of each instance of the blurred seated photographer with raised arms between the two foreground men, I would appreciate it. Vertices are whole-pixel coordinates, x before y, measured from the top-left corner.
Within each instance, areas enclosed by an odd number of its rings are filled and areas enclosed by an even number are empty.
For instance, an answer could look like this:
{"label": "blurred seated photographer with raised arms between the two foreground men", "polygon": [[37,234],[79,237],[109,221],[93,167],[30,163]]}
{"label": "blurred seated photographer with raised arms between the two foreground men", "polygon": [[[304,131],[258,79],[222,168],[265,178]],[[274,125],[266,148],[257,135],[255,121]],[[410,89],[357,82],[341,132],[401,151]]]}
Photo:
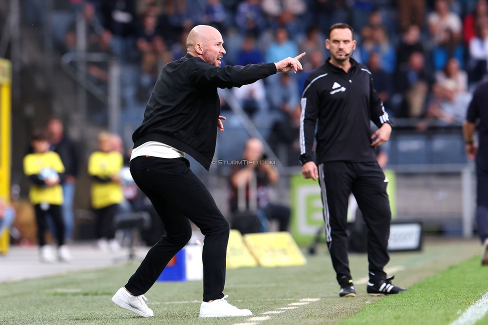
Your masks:
{"label": "blurred seated photographer with raised arms between the two foreground men", "polygon": [[[271,188],[279,179],[278,170],[271,163],[264,163],[267,158],[263,155],[262,142],[256,138],[250,138],[245,142],[245,149],[242,159],[256,162],[248,164],[232,165],[229,175],[231,186],[230,211],[237,211],[237,191],[238,188],[245,188],[245,204],[249,206],[249,181],[251,177],[256,177],[257,208],[264,211],[268,220],[279,222],[278,231],[288,231],[290,209],[282,204],[269,202]],[[268,160],[269,161],[269,160]],[[260,162],[259,164],[257,162]],[[265,227],[267,228],[267,227]]]}

